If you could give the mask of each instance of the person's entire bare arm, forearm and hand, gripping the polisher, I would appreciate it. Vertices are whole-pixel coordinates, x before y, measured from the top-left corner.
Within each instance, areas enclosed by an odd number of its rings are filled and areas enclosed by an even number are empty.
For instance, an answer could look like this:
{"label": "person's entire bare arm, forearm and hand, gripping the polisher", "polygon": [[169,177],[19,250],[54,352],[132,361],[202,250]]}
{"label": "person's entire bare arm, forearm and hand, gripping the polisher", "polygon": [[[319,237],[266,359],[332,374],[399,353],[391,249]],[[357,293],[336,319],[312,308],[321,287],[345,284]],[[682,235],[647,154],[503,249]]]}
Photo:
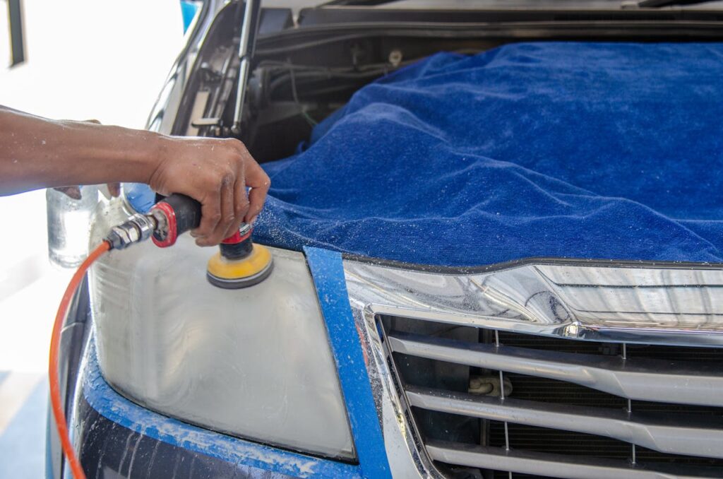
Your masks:
{"label": "person's entire bare arm, forearm and hand, gripping the polisher", "polygon": [[194,234],[202,246],[218,245],[241,221],[252,223],[270,186],[239,140],[54,121],[0,106],[0,195],[114,182],[147,183],[199,201]]}

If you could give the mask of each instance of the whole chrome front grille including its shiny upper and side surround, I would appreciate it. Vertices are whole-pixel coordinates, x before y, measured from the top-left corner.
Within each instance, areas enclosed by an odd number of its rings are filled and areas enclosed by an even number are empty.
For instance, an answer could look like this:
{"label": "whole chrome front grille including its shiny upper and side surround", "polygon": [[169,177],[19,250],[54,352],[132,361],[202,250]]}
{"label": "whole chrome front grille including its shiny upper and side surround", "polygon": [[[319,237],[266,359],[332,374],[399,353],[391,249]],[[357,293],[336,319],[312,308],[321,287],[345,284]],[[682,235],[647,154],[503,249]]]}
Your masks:
{"label": "whole chrome front grille including its shiny upper and side surround", "polygon": [[395,475],[723,476],[723,265],[346,258],[344,275]]}

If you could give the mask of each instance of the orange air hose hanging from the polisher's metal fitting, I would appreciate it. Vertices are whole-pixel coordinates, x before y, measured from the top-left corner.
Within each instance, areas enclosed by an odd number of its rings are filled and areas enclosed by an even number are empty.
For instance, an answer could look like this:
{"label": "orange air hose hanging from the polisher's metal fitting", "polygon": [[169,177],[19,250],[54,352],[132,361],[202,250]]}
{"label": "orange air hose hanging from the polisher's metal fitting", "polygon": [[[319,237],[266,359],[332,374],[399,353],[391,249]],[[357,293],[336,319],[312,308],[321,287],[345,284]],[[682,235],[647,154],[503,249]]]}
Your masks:
{"label": "orange air hose hanging from the polisher's metal fitting", "polygon": [[60,400],[60,381],[58,371],[58,356],[60,349],[60,334],[63,329],[63,323],[68,313],[68,306],[75,294],[75,290],[80,285],[83,276],[86,271],[90,268],[90,265],[97,260],[100,255],[106,253],[111,249],[111,243],[103,241],[98,247],[93,250],[85,261],[78,267],[75,274],[70,279],[68,287],[65,289],[63,299],[60,300],[60,306],[58,307],[58,314],[55,316],[55,324],[53,326],[53,336],[51,336],[50,342],[50,366],[48,368],[48,378],[50,378],[50,402],[53,409],[53,415],[55,417],[55,425],[58,428],[58,436],[60,437],[60,444],[63,447],[63,454],[68,459],[70,470],[73,474],[74,479],[85,479],[85,472],[83,472],[80,466],[80,460],[75,455],[73,445],[70,442],[70,436],[68,434],[68,423],[65,418],[65,412],[63,405]]}

